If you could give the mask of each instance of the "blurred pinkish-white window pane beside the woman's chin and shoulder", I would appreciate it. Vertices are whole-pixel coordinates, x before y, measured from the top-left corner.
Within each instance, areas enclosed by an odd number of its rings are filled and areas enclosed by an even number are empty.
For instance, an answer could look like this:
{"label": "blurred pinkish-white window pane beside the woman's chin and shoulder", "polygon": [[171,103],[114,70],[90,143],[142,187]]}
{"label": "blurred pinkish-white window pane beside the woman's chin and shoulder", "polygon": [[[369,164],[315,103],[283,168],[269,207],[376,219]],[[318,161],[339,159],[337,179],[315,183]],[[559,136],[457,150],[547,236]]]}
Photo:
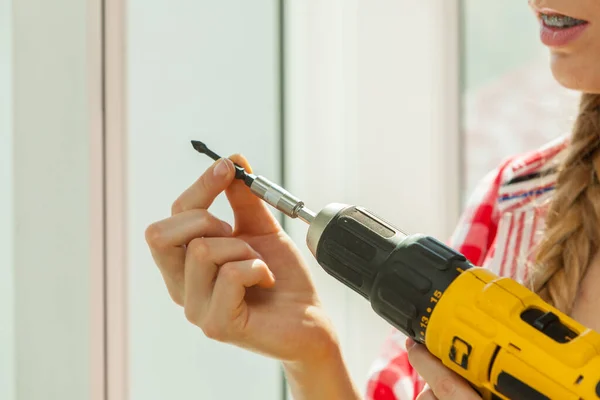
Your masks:
{"label": "blurred pinkish-white window pane beside the woman's chin and shoulder", "polygon": [[553,79],[527,2],[463,0],[463,14],[468,196],[505,157],[568,132],[578,97]]}

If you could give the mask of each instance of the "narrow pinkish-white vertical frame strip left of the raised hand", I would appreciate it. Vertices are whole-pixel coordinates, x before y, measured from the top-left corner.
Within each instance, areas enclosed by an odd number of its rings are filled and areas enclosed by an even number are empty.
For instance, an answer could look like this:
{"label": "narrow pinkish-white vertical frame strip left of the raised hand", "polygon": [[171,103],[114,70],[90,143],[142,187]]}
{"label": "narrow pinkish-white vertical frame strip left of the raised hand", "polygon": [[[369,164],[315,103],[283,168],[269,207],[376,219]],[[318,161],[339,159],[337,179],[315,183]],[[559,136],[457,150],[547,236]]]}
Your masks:
{"label": "narrow pinkish-white vertical frame strip left of the raised hand", "polygon": [[106,398],[129,399],[126,0],[104,2]]}

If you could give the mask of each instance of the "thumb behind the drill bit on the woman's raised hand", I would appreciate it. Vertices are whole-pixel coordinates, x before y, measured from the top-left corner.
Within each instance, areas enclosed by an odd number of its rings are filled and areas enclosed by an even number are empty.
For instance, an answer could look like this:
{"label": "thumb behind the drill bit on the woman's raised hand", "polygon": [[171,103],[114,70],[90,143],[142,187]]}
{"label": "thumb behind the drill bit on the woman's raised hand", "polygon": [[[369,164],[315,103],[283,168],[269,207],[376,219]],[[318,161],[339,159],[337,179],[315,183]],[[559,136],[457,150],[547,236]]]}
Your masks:
{"label": "thumb behind the drill bit on the woman's raised hand", "polygon": [[[229,158],[252,173],[248,160],[241,154]],[[237,234],[266,235],[281,230],[269,205],[250,191],[250,188],[239,179],[235,179],[225,191],[235,218]]]}

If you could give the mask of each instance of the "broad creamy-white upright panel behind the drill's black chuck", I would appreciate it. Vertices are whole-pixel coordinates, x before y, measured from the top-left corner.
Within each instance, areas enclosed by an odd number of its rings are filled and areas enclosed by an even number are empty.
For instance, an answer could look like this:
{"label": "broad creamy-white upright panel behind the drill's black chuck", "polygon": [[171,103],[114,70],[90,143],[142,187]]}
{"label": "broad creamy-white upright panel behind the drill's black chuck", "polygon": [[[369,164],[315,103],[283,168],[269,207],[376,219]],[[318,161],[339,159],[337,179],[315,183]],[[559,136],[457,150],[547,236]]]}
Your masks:
{"label": "broad creamy-white upright panel behind the drill's black chuck", "polygon": [[[455,4],[288,2],[286,185],[309,208],[359,204],[406,232],[450,235],[460,208]],[[288,226],[306,249],[306,226]],[[390,327],[313,267],[364,389]]]}

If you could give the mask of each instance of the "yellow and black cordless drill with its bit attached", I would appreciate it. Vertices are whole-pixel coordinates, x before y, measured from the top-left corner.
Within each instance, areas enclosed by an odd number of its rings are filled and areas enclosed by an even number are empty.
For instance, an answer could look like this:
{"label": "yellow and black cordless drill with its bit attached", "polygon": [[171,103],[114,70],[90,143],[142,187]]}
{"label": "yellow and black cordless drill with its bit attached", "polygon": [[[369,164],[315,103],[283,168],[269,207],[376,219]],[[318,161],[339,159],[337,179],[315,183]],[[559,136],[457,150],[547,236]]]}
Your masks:
{"label": "yellow and black cordless drill with its bit attached", "polygon": [[331,204],[314,213],[268,179],[236,169],[255,195],[309,224],[308,247],[327,273],[484,399],[600,399],[600,335],[524,286],[364,208]]}

